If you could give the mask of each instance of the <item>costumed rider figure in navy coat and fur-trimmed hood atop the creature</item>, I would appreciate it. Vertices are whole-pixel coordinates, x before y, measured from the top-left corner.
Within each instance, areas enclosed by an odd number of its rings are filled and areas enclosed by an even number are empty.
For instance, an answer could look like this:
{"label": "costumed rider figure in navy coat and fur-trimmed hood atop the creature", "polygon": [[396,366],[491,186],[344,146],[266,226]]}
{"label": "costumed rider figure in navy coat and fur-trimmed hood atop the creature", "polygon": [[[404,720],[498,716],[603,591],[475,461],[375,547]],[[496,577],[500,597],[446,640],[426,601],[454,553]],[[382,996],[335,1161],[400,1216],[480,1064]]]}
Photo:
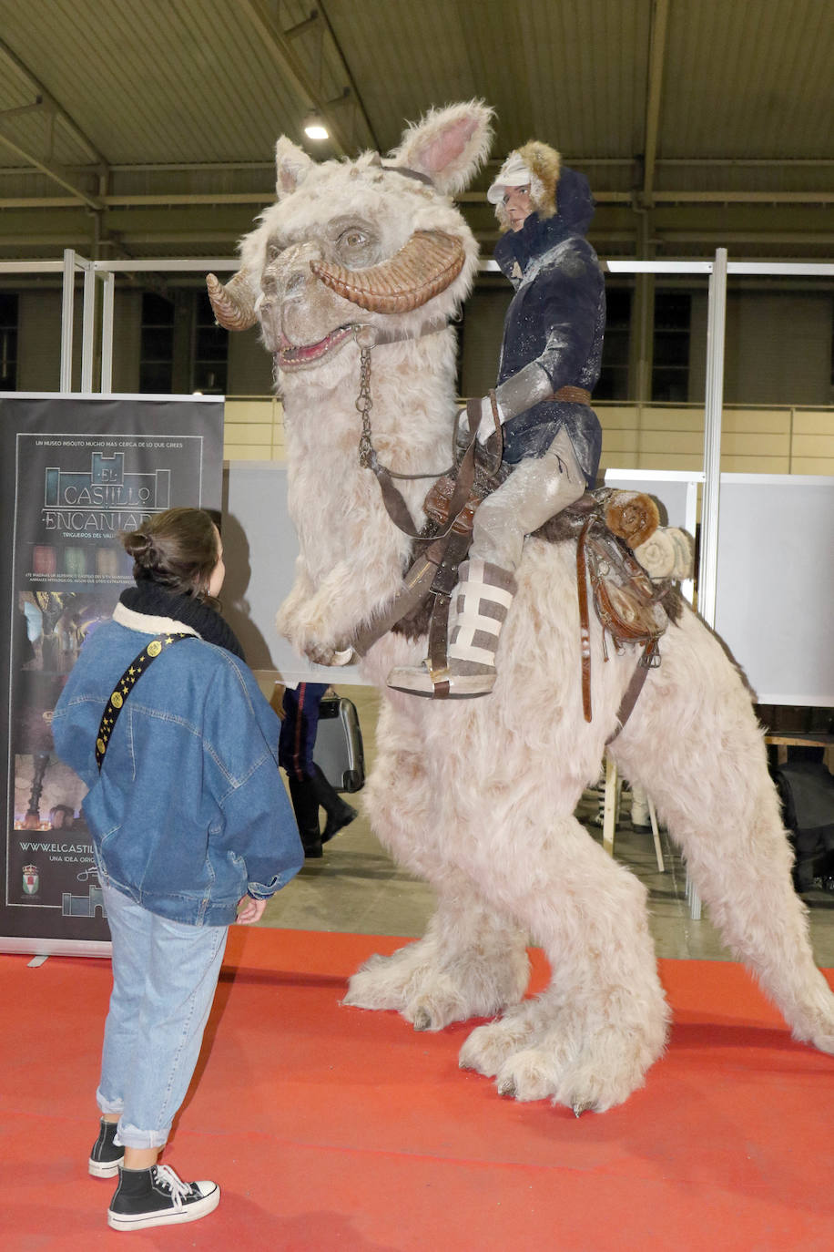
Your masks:
{"label": "costumed rider figure in navy coat and fur-trimmed hood atop the creature", "polygon": [[[495,399],[503,463],[511,473],[479,506],[469,558],[453,596],[449,669],[428,662],[391,671],[389,686],[434,695],[488,695],[495,651],[516,591],[524,537],[593,487],[601,428],[590,408],[605,329],[605,284],[584,238],[594,199],[584,174],[560,169],[559,153],[535,140],[510,153],[486,193],[506,232],[495,259],[515,294],[504,322]],[[458,432],[466,414],[458,414]],[[481,401],[480,442],[495,432],[489,396]]]}

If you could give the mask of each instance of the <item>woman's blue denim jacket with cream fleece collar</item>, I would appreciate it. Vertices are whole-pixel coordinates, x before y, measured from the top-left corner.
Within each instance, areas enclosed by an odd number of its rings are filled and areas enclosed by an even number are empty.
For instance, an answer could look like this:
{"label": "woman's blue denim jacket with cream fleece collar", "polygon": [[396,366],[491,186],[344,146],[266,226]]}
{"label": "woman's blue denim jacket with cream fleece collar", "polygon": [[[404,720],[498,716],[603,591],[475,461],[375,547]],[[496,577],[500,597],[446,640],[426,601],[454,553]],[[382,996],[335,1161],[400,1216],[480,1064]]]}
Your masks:
{"label": "woman's blue denim jacket with cream fleece collar", "polygon": [[111,691],[165,630],[194,634],[116,606],[58,701],[55,747],[89,788],[103,879],[174,921],[229,925],[244,895],[269,898],[304,861],[278,771],[280,722],[246,665],[196,635],[174,644],[125,699],[101,774],[95,761]]}

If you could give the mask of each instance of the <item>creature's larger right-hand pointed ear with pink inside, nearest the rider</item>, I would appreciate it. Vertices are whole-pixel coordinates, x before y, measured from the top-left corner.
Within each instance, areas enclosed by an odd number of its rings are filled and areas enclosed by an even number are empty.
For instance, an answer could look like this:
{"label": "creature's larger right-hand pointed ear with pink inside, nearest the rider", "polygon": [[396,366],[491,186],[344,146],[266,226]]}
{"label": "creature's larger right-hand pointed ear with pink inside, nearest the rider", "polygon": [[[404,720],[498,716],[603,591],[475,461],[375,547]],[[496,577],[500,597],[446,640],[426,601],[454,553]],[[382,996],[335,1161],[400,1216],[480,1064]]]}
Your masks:
{"label": "creature's larger right-hand pointed ear with pink inside, nearest the rider", "polygon": [[454,195],[469,185],[489,154],[491,119],[493,110],[481,100],[431,109],[405,131],[391,156],[398,165],[428,174],[439,192]]}

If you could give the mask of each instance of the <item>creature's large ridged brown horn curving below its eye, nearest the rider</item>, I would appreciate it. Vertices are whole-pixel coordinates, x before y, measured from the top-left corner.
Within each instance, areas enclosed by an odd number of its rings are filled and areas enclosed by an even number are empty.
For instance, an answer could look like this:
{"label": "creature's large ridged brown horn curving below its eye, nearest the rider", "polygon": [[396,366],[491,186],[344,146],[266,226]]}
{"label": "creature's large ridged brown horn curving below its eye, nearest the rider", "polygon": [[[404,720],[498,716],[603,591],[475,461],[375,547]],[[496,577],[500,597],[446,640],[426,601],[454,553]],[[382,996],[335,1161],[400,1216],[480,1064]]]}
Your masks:
{"label": "creature's large ridged brown horn curving below its eye, nearest the rider", "polygon": [[310,269],[326,287],[369,313],[410,313],[454,283],[464,260],[460,239],[443,230],[415,230],[379,265],[345,269],[314,260]]}

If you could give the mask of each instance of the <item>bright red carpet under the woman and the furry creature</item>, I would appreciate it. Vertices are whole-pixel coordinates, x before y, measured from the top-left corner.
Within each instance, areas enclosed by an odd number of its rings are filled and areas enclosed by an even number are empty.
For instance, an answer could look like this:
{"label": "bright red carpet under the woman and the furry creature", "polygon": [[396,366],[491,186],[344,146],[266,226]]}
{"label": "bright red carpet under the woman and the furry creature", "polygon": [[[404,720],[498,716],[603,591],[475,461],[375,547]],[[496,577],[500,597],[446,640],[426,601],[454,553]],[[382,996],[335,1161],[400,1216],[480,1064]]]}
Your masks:
{"label": "bright red carpet under the woman and the furry creature", "polygon": [[233,931],[166,1149],[220,1182],[220,1208],[130,1236],[85,1172],[109,962],[0,957],[4,1252],[831,1252],[834,1058],[793,1043],[738,965],[661,962],[666,1057],[624,1107],[576,1121],[459,1070],[469,1027],[339,1007],[359,962],[403,942]]}

